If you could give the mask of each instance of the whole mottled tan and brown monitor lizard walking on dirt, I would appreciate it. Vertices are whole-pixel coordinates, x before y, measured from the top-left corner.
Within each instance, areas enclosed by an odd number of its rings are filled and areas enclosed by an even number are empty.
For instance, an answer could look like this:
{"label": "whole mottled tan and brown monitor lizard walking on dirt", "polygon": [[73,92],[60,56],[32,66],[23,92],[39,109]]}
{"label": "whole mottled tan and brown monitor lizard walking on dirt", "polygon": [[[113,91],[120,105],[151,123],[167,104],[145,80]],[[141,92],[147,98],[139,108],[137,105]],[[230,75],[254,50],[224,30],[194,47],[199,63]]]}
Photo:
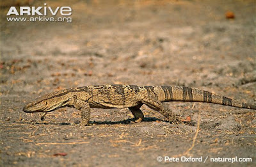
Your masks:
{"label": "whole mottled tan and brown monitor lizard walking on dirt", "polygon": [[113,84],[54,91],[26,104],[23,111],[27,113],[43,112],[41,119],[44,119],[47,112],[54,111],[60,107],[74,107],[81,111],[81,124],[86,125],[90,120],[90,108],[128,107],[132,115],[134,115],[135,122],[141,122],[144,115],[140,107],[145,104],[159,111],[172,122],[179,122],[172,111],[162,104],[162,102],[170,101],[209,102],[225,106],[256,109],[253,105],[186,86]]}

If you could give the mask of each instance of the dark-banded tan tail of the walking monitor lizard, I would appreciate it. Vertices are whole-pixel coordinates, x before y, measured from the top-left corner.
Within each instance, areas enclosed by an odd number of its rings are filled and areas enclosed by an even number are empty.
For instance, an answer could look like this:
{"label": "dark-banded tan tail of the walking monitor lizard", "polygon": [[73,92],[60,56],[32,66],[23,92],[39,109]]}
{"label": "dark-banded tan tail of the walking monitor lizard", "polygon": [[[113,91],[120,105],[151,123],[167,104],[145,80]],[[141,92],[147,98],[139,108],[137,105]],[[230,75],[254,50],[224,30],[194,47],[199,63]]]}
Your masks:
{"label": "dark-banded tan tail of the walking monitor lizard", "polygon": [[158,93],[160,97],[159,100],[161,100],[161,102],[208,102],[225,106],[256,109],[255,105],[239,102],[238,100],[230,99],[228,97],[197,88],[189,88],[186,86],[159,86],[159,88],[162,90],[162,93]]}

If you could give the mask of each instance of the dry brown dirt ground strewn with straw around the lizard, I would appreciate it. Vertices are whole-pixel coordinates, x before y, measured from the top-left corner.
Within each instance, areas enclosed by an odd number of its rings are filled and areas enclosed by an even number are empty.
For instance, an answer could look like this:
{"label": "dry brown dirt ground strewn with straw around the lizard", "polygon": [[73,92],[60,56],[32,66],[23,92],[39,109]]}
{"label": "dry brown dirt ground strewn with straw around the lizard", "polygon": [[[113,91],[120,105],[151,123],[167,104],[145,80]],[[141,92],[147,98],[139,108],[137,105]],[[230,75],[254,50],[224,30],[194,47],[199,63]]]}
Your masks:
{"label": "dry brown dirt ground strewn with straw around the lizard", "polygon": [[[76,109],[43,121],[22,111],[45,93],[93,84],[185,85],[255,104],[255,1],[22,4],[70,6],[72,22],[8,22],[14,2],[3,2],[0,166],[255,165],[255,110],[166,102],[191,118],[172,124],[146,106],[141,123],[129,123],[129,109],[92,109],[85,127]],[[164,162],[168,157],[179,162]]]}

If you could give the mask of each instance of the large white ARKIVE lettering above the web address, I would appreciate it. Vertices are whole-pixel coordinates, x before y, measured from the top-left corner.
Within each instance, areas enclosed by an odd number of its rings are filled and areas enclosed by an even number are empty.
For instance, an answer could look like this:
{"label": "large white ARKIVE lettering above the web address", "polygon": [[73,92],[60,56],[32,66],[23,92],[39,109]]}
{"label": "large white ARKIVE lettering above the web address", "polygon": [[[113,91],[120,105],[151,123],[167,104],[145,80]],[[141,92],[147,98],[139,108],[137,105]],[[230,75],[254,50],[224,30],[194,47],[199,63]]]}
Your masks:
{"label": "large white ARKIVE lettering above the web address", "polygon": [[57,8],[52,9],[51,6],[46,6],[46,3],[44,5],[45,6],[38,6],[37,8],[35,6],[20,6],[19,12],[15,6],[11,6],[7,15],[46,16],[48,14],[56,15],[58,12],[60,12],[60,15],[63,16],[72,15],[72,8],[70,8],[70,6],[58,6]]}

